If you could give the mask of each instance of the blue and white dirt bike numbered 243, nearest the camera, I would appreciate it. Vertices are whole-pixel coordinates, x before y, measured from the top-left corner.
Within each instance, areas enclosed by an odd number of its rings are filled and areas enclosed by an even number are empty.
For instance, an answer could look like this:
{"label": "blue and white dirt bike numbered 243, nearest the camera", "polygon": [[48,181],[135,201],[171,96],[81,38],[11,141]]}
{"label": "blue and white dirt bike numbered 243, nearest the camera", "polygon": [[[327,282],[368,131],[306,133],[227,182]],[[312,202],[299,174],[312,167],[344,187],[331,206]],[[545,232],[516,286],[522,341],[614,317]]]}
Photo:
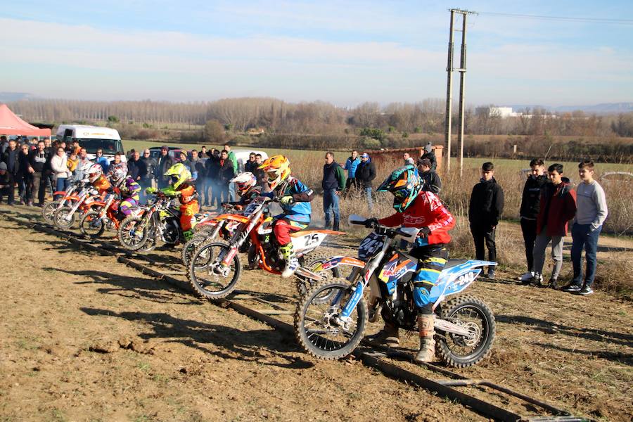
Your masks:
{"label": "blue and white dirt bike numbered 243, nearest the camera", "polygon": [[[364,222],[363,217],[350,216],[350,224]],[[322,268],[314,269],[319,272],[350,265],[354,267],[350,277],[316,284],[300,298],[295,334],[302,347],[315,357],[339,359],[353,352],[363,339],[367,321],[376,321],[378,313],[399,328],[418,330],[413,296],[417,260],[395,245],[396,238],[414,242],[418,229],[372,226],[373,231],[359,246],[359,259],[331,257],[321,264]],[[490,308],[479,298],[462,293],[482,267],[490,265],[497,263],[449,260],[430,291],[436,354],[449,366],[474,365],[492,348],[495,328]],[[363,295],[368,288],[369,306]]]}

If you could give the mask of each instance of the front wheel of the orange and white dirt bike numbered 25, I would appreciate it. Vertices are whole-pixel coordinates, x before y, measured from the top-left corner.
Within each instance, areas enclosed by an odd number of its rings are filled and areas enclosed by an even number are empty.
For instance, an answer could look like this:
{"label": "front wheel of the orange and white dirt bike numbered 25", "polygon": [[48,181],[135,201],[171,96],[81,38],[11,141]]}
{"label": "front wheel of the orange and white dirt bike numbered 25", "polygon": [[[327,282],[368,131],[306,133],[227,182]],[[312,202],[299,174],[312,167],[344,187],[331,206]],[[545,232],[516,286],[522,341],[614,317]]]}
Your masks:
{"label": "front wheel of the orange and white dirt bike numbered 25", "polygon": [[242,264],[236,253],[229,267],[222,261],[231,247],[225,242],[210,242],[200,245],[189,262],[187,279],[193,294],[198,298],[218,300],[226,298],[237,286]]}

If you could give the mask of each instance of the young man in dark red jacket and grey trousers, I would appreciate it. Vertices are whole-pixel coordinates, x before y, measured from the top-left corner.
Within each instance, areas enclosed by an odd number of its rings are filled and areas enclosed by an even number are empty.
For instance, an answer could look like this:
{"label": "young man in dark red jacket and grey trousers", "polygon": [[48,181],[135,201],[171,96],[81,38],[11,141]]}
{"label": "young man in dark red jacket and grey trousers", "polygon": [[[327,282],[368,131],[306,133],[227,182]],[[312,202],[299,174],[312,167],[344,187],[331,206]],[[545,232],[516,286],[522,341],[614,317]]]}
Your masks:
{"label": "young man in dark red jacket and grey trousers", "polygon": [[[563,236],[567,234],[567,223],[576,214],[576,193],[563,177],[563,165],[553,164],[547,169],[548,183],[541,192],[539,215],[537,217],[537,238],[534,245],[534,276],[530,284],[556,288],[556,279],[563,266]],[[551,258],[554,269],[549,283],[542,284],[545,249],[551,241]]]}

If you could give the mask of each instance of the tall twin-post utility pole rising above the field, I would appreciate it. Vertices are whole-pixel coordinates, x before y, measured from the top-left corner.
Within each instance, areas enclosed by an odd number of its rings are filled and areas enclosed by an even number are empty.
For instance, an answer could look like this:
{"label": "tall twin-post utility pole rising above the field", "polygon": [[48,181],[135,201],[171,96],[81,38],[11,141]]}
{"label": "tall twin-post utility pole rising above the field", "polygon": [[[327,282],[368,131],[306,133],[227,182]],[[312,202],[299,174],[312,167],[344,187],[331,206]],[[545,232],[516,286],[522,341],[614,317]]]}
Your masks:
{"label": "tall twin-post utility pole rising above the field", "polygon": [[[448,58],[448,82],[446,98],[446,143],[447,143],[447,171],[451,170],[451,132],[452,132],[452,83],[453,70],[459,72],[459,176],[463,174],[463,115],[464,115],[464,90],[466,84],[466,15],[476,15],[471,11],[461,9],[449,9],[451,12],[451,33],[449,36],[449,58]],[[453,32],[455,13],[461,15],[461,54],[459,68],[453,68]]]}

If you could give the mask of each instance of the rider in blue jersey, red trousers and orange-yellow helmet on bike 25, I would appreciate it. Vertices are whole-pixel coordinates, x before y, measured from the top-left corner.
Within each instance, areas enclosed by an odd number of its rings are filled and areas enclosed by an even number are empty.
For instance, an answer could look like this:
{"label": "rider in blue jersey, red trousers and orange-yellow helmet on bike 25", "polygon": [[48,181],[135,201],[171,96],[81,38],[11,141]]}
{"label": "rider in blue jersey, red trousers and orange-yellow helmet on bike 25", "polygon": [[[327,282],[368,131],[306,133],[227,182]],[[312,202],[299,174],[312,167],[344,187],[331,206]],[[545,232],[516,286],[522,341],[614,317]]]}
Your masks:
{"label": "rider in blue jersey, red trousers and orange-yellow helmet on bike 25", "polygon": [[282,277],[290,277],[299,267],[299,261],[293,251],[290,239],[291,231],[305,229],[310,224],[314,191],[302,184],[299,179],[290,176],[290,162],[283,155],[268,158],[260,169],[264,170],[270,191],[262,196],[279,198],[282,214],[274,217],[273,232],[279,243],[279,252],[286,262]]}

